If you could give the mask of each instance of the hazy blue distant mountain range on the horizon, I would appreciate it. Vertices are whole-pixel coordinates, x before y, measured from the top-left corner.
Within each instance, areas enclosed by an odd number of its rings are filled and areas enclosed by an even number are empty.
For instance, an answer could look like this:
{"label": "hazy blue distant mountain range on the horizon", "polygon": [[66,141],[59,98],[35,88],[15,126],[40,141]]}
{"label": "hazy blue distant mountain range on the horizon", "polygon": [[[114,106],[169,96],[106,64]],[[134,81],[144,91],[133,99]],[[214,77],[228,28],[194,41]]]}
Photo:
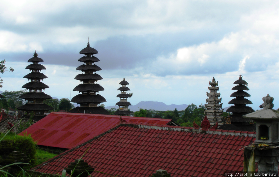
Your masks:
{"label": "hazy blue distant mountain range on the horizon", "polygon": [[[161,111],[166,111],[166,110],[185,110],[188,107],[188,105],[183,104],[183,105],[166,105],[163,102],[158,102],[158,101],[140,101],[136,105],[129,106],[131,111],[139,111],[139,109],[153,109],[153,110],[161,110]],[[105,109],[111,109],[111,108],[116,108],[118,109],[119,106],[107,106]]]}

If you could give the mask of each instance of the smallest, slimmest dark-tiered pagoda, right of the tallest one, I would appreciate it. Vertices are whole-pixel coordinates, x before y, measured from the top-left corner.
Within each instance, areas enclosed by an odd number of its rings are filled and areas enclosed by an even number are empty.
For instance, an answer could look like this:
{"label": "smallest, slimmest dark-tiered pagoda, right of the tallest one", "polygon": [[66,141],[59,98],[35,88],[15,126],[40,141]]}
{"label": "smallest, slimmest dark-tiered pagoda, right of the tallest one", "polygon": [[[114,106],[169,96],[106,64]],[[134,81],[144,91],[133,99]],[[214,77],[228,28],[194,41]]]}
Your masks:
{"label": "smallest, slimmest dark-tiered pagoda, right of the tallest one", "polygon": [[123,116],[130,116],[131,111],[128,109],[128,106],[131,105],[129,101],[127,101],[127,98],[132,97],[133,93],[127,93],[130,89],[126,87],[129,83],[125,80],[125,78],[119,83],[122,85],[122,87],[119,87],[121,93],[118,94],[116,97],[120,98],[120,101],[118,101],[115,105],[119,106],[119,110],[117,110],[114,114],[115,115],[123,115]]}

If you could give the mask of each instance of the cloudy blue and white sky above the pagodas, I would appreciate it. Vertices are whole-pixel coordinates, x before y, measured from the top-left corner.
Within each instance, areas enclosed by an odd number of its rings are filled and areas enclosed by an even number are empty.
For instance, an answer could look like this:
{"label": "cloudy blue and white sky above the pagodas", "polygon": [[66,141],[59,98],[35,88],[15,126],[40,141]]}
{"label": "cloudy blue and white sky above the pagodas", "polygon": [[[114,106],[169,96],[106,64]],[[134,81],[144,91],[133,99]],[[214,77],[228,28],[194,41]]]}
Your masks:
{"label": "cloudy blue and white sky above the pagodas", "polygon": [[0,60],[14,72],[0,77],[0,91],[16,91],[34,48],[47,69],[45,93],[57,98],[79,94],[74,77],[90,43],[99,54],[99,92],[114,106],[119,82],[126,79],[139,101],[206,103],[213,77],[223,108],[234,97],[234,81],[243,76],[254,110],[262,97],[279,107],[279,2],[277,0],[2,0]]}

